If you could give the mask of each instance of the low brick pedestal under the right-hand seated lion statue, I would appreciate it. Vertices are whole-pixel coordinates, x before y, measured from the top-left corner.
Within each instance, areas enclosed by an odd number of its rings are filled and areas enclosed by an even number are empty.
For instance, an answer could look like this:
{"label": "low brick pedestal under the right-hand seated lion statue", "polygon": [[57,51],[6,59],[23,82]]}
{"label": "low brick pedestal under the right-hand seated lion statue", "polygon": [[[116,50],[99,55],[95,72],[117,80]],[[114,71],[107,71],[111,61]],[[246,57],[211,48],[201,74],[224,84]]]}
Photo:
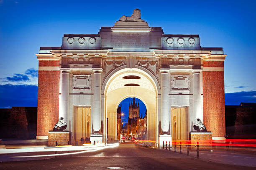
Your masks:
{"label": "low brick pedestal under the right-hand seated lion statue", "polygon": [[199,143],[200,150],[212,148],[211,132],[189,132],[189,140],[191,140],[191,149],[197,149],[195,145]]}

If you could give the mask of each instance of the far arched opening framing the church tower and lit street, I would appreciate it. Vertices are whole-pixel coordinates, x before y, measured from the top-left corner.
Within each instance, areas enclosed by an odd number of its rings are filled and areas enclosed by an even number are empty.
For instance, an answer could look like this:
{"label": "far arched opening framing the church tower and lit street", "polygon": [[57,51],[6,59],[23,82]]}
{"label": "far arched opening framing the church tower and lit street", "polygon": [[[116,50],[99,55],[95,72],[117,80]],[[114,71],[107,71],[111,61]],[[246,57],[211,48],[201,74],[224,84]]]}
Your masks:
{"label": "far arched opening framing the church tower and lit street", "polygon": [[[120,135],[119,135],[120,134]],[[136,97],[122,100],[117,109],[118,140],[147,140],[146,105]]]}

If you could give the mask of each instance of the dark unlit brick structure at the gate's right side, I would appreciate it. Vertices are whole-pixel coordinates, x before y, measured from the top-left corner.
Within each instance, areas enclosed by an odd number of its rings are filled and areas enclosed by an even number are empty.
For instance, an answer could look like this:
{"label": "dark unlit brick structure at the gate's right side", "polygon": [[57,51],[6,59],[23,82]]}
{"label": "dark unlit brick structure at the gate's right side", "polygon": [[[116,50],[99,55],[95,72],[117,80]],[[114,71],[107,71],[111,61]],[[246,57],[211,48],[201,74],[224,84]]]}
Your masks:
{"label": "dark unlit brick structure at the gate's right side", "polygon": [[256,103],[225,105],[225,124],[228,138],[256,138]]}

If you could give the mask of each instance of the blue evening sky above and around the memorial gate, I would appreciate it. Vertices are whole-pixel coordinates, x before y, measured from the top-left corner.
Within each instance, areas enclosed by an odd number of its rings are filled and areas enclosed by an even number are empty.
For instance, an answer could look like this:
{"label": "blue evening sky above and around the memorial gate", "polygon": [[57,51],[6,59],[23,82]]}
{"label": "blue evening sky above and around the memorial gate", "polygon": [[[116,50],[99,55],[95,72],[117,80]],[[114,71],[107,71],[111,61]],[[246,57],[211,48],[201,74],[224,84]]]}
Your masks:
{"label": "blue evening sky above and around the memorial gate", "polygon": [[202,47],[223,47],[225,103],[256,102],[256,1],[0,0],[0,107],[36,106],[40,46],[97,34],[135,8],[165,34],[199,34]]}

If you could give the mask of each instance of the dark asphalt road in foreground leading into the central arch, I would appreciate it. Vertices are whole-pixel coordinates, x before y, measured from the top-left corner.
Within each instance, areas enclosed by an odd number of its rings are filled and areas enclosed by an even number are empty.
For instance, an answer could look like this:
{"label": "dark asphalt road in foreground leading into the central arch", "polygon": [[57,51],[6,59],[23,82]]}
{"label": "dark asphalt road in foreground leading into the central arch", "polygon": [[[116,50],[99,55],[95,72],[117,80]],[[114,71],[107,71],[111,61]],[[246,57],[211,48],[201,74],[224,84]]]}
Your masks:
{"label": "dark asphalt road in foreground leading into the central arch", "polygon": [[0,163],[0,170],[255,170],[255,167],[225,165],[197,160],[184,154],[122,143],[93,153],[58,156],[46,160]]}

